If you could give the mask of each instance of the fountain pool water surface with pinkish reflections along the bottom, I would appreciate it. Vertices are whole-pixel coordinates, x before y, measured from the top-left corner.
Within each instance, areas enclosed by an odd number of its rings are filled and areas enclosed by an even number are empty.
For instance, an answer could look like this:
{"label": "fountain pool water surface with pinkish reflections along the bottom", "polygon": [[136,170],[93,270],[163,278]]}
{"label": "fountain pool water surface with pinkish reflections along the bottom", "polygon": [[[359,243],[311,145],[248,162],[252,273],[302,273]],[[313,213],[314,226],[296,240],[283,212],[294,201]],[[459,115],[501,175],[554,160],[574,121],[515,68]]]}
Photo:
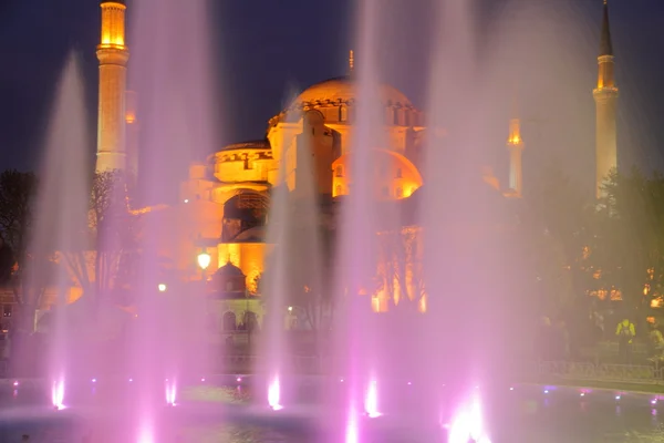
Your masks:
{"label": "fountain pool water surface with pinkish reflections along the bottom", "polygon": [[[264,381],[255,377],[215,375],[191,381],[177,393],[175,406],[156,408],[155,429],[169,423],[168,435],[151,434],[145,442],[305,443],[324,441],[334,430],[324,429],[318,394],[341,379],[299,378],[289,381],[291,396],[283,409],[264,404]],[[131,441],[135,431],[124,427],[134,413],[134,385],[129,380],[92,380],[71,391],[70,402],[55,411],[42,382],[6,380],[0,385],[0,441],[116,442]],[[417,420],[415,382],[395,382],[393,399],[383,403],[381,416],[362,415],[362,441],[385,443],[445,442],[450,426],[430,426]],[[255,389],[257,395],[253,395]],[[69,391],[68,391],[69,392]],[[616,393],[540,385],[479,388],[485,399],[490,441],[496,442],[633,442],[664,437],[656,395]],[[664,401],[664,398],[663,398]],[[390,402],[392,402],[390,404]],[[664,403],[662,403],[664,404]],[[343,411],[339,411],[340,413]],[[566,423],[560,426],[560,423]],[[165,427],[165,426],[164,426]]]}

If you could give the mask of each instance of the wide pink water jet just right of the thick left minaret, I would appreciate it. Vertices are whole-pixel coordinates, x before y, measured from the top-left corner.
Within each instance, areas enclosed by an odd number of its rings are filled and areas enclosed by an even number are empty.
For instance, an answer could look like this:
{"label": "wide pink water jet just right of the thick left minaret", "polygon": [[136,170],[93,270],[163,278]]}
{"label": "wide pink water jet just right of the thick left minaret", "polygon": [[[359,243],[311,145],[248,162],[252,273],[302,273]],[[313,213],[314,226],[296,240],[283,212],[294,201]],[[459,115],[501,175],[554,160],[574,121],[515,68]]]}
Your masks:
{"label": "wide pink water jet just right of the thick left minaret", "polygon": [[[129,81],[137,92],[143,122],[137,183],[143,202],[155,205],[173,200],[177,188],[172,184],[186,173],[183,165],[194,156],[207,155],[215,145],[218,125],[211,105],[211,35],[204,1],[145,0],[136,3],[135,12],[129,32]],[[190,269],[196,266],[196,249],[200,251],[204,246],[196,243],[201,233],[191,233],[187,226],[186,213],[196,210],[194,205],[180,203],[168,210],[172,213],[148,212],[143,219],[138,321],[132,331],[129,357],[132,377],[141,392],[137,429],[158,430],[159,434],[169,427],[166,423],[156,425],[160,408],[173,404],[180,380],[193,374],[199,378],[210,370],[214,357],[200,320],[206,318],[207,281],[196,285],[173,278],[165,287],[159,286],[164,285],[163,255],[190,255],[175,264]],[[173,245],[173,238],[193,240],[180,249],[180,245]],[[187,327],[174,328],[178,322]],[[165,338],[166,331],[170,333]]]}

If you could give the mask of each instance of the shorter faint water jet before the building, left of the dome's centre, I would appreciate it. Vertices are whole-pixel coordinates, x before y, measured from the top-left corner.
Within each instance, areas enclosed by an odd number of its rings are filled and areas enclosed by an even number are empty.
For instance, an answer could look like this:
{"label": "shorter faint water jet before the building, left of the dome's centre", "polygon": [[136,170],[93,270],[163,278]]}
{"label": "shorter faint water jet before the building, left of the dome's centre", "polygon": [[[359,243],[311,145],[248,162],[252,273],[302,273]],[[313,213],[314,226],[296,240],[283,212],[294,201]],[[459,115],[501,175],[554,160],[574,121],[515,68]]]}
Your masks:
{"label": "shorter faint water jet before the building, left of the dome's centre", "polygon": [[[281,408],[282,384],[292,380],[293,324],[287,318],[295,315],[313,336],[315,356],[321,358],[322,332],[329,327],[329,289],[323,284],[322,198],[331,196],[326,146],[317,146],[314,133],[320,125],[317,111],[289,111],[289,120],[298,122],[302,132],[278,158],[279,179],[271,199],[268,243],[274,250],[267,266],[268,313],[261,353],[266,358],[268,403]],[[329,274],[334,274],[328,268]],[[293,312],[297,307],[297,312]]]}

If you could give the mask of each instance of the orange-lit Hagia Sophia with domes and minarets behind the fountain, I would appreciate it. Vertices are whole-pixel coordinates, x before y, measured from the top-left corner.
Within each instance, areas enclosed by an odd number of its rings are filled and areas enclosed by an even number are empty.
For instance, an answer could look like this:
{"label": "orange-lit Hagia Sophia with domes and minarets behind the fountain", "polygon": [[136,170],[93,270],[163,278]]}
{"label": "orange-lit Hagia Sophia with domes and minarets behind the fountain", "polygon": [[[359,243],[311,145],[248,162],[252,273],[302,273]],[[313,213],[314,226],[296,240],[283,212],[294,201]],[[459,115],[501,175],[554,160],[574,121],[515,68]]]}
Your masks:
{"label": "orange-lit Hagia Sophia with domes and minarets behind the fountain", "polygon": [[[126,169],[139,173],[136,96],[126,90],[129,52],[125,42],[126,6],[122,0],[103,1],[100,61],[100,95],[96,171]],[[616,167],[616,100],[614,56],[609,30],[609,10],[603,6],[599,75],[593,97],[596,104],[596,193],[609,172]],[[279,168],[286,165],[290,190],[298,186],[298,154],[311,150],[320,194],[332,198],[347,195],[350,138],[355,122],[353,53],[347,76],[317,83],[267,122],[267,133],[259,141],[236,143],[211,154],[205,163],[189,166],[188,179],[181,183],[179,203],[152,209],[168,220],[186,226],[186,238],[164,245],[178,270],[187,279],[221,278],[229,293],[220,313],[234,312],[228,321],[259,303],[247,305],[256,292],[257,278],[263,271],[271,245],[264,241],[269,192],[277,185]],[[421,151],[427,131],[422,111],[397,89],[382,84],[381,104],[385,110],[384,130],[387,144],[380,150],[380,175],[375,177],[375,197],[385,200],[407,199],[423,186]],[[509,176],[501,184],[491,173],[478,172],[487,184],[505,198],[520,198],[523,192],[521,156],[525,141],[518,115],[505,122],[506,156]],[[260,136],[261,134],[257,134]],[[141,212],[141,209],[138,210]],[[201,271],[196,257],[210,255],[209,268]],[[235,296],[234,296],[235,293]],[[249,295],[249,297],[248,297]],[[236,297],[237,296],[237,297]],[[380,310],[380,303],[375,305]],[[224,321],[227,321],[226,317]]]}

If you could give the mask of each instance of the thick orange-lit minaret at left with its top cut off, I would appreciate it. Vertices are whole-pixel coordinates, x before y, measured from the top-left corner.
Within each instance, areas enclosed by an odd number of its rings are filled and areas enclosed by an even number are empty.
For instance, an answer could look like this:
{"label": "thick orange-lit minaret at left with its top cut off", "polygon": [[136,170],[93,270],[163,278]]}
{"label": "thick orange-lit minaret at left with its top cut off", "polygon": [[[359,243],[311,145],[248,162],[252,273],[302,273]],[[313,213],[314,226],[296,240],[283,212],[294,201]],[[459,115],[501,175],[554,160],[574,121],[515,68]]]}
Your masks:
{"label": "thick orange-lit minaret at left with its top cut off", "polygon": [[125,89],[129,51],[125,44],[124,0],[102,0],[100,107],[96,171],[125,169]]}

